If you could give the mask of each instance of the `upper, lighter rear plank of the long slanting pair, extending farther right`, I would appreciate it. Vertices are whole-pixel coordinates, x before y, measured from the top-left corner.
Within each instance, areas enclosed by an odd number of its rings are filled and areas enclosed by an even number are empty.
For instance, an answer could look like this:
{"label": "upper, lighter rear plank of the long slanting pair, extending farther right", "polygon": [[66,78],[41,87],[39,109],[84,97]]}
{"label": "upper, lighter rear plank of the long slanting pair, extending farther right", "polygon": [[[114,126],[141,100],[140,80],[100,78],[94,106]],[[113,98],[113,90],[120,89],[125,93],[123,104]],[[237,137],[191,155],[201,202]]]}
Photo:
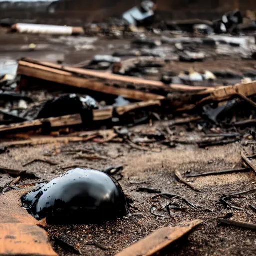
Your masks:
{"label": "upper, lighter rear plank of the long slanting pair, extending farther right", "polygon": [[[131,77],[131,76],[125,76],[125,75],[118,75],[118,74],[112,74],[108,72],[99,72],[99,71],[94,71],[94,70],[89,70],[89,69],[84,69],[84,68],[77,68],[77,67],[70,67],[70,66],[63,66],[59,64],[54,64],[51,62],[42,62],[42,61],[37,61],[33,59],[28,59],[28,58],[23,58],[22,60],[19,61],[19,66],[21,67],[22,65],[28,65],[29,64],[36,64],[45,68],[54,68],[59,71],[67,71],[71,72],[73,74],[79,74],[79,75],[84,75],[88,78],[93,78],[91,81],[95,81],[95,78],[100,79],[100,81],[105,81],[105,83],[112,82],[112,83],[126,83],[126,84],[133,84],[138,87],[147,87],[147,86],[152,86],[154,88],[162,88],[164,90],[169,90],[169,91],[181,91],[181,92],[198,92],[200,91],[203,93],[209,93],[211,91],[214,91],[216,87],[206,87],[206,86],[190,86],[190,85],[182,85],[182,84],[170,84],[166,85],[160,81],[153,81],[153,80],[146,80],[142,78],[137,78],[137,77]],[[47,69],[49,70],[49,69]],[[18,68],[18,73],[19,73],[19,68]],[[20,73],[22,74],[22,73]],[[64,73],[63,73],[64,74]],[[122,94],[121,94],[122,95]],[[140,99],[142,100],[142,99]]]}

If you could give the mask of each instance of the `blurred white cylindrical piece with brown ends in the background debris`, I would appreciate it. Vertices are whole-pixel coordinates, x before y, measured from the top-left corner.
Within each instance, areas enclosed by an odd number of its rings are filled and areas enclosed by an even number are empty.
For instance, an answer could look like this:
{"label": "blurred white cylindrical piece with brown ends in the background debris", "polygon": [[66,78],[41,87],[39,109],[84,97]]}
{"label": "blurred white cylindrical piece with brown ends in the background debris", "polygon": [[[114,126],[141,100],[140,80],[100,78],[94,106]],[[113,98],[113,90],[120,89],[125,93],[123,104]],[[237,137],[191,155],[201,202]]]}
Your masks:
{"label": "blurred white cylindrical piece with brown ends in the background debris", "polygon": [[84,34],[82,27],[17,23],[11,27],[19,33],[72,35]]}

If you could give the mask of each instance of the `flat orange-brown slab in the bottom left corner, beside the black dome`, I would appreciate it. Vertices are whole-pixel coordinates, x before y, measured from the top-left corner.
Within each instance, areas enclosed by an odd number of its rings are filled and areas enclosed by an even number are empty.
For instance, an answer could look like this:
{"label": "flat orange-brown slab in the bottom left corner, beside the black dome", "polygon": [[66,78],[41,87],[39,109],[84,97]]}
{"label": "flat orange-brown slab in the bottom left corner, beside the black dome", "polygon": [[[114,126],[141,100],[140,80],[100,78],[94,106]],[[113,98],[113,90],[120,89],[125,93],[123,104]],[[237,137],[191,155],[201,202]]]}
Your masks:
{"label": "flat orange-brown slab in the bottom left corner, beside the black dome", "polygon": [[39,221],[21,207],[20,196],[25,192],[0,195],[0,255],[57,256]]}

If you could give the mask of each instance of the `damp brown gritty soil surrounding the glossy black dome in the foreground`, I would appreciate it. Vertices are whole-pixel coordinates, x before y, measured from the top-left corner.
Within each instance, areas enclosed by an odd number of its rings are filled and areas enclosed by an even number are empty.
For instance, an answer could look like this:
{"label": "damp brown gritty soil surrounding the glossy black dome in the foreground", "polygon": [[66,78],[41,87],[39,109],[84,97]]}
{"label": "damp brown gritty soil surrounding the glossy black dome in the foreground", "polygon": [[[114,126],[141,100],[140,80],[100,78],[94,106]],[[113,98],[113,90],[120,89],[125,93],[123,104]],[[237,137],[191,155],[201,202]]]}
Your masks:
{"label": "damp brown gritty soil surrounding the glossy black dome in the foreground", "polygon": [[[78,160],[75,155],[63,152],[82,148],[95,150],[99,155],[107,156],[107,160]],[[255,213],[248,206],[256,199],[253,194],[233,199],[235,205],[243,207],[244,210],[228,209],[219,202],[225,195],[253,188],[253,171],[189,178],[188,180],[202,190],[202,193],[195,192],[178,182],[174,176],[176,170],[186,175],[241,167],[240,147],[236,143],[211,147],[208,150],[193,145],[178,146],[173,149],[165,148],[156,153],[139,151],[122,143],[79,142],[67,145],[13,147],[9,152],[1,154],[0,160],[8,167],[24,169],[23,164],[49,152],[58,152],[54,156],[47,156],[58,165],[34,162],[25,167],[39,177],[36,182],[50,181],[72,165],[98,170],[123,165],[123,178],[119,183],[126,196],[133,200],[128,214],[114,221],[102,224],[47,224],[50,242],[59,255],[73,254],[59,245],[54,237],[79,249],[82,255],[114,255],[160,227],[175,226],[184,221],[223,217],[232,212],[233,220],[255,222]],[[9,179],[7,175],[1,174],[1,184]],[[34,180],[23,179],[19,184],[33,182]],[[181,195],[197,208],[192,208],[179,199],[151,199],[154,194],[137,191],[139,187],[155,188],[162,192]],[[165,206],[170,202],[172,204],[167,212]],[[153,215],[152,207],[153,213],[162,216]],[[207,220],[189,235],[162,251],[161,255],[253,255],[255,246],[255,232]]]}

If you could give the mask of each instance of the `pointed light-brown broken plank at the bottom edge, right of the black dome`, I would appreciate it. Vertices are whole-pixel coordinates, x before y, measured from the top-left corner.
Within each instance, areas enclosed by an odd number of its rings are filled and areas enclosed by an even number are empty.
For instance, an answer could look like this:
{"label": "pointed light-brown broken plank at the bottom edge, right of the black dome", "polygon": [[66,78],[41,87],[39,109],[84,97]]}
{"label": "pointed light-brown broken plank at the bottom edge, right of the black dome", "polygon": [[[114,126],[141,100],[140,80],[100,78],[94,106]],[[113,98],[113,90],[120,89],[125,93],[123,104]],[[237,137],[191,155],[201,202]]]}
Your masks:
{"label": "pointed light-brown broken plank at the bottom edge, right of the black dome", "polygon": [[116,256],[150,256],[187,234],[203,221],[196,219],[175,227],[162,227],[116,254]]}

